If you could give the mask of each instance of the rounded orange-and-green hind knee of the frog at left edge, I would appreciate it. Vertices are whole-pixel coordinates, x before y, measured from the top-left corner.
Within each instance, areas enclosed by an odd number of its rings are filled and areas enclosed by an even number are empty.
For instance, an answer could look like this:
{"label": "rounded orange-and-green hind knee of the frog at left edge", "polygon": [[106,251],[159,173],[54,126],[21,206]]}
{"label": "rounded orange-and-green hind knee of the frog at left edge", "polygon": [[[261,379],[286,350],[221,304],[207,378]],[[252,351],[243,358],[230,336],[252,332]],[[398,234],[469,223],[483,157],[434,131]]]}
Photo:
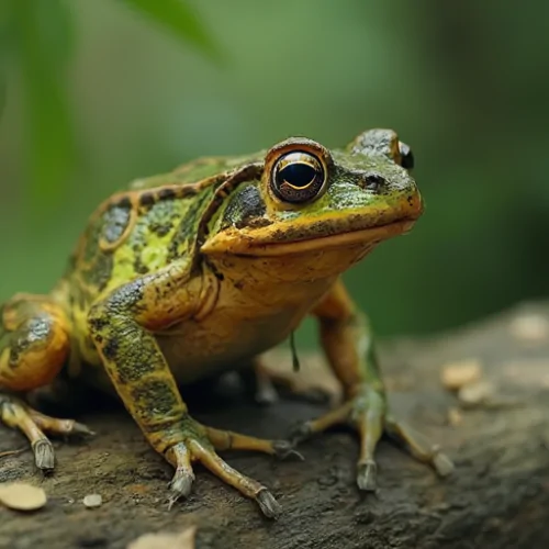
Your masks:
{"label": "rounded orange-and-green hind knee of the frog at left edge", "polygon": [[51,383],[69,347],[67,324],[54,305],[12,302],[0,324],[0,388],[30,391]]}

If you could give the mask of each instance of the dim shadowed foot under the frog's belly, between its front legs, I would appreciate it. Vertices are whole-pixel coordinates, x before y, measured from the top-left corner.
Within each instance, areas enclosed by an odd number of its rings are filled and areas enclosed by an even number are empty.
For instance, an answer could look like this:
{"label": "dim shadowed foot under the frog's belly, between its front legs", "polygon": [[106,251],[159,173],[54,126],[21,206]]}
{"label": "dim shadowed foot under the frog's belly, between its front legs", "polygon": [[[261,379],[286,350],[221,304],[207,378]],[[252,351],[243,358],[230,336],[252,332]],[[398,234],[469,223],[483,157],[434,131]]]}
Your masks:
{"label": "dim shadowed foot under the frog's belly, between its front legs", "polygon": [[259,404],[273,404],[279,400],[278,388],[313,404],[326,404],[333,395],[322,386],[306,383],[293,372],[276,371],[258,362],[251,371],[254,397]]}

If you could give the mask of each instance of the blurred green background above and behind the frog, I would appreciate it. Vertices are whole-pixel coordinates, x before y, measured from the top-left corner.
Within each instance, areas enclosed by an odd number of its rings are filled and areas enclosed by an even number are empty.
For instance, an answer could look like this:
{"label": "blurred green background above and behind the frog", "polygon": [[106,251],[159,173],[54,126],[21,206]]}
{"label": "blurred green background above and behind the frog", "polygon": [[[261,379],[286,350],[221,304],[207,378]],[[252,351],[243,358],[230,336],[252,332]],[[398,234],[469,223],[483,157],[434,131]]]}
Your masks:
{"label": "blurred green background above and behind the frog", "polygon": [[0,0],[0,300],[47,291],[133,178],[373,126],[412,146],[427,204],[346,276],[377,330],[544,296],[548,20],[541,0]]}

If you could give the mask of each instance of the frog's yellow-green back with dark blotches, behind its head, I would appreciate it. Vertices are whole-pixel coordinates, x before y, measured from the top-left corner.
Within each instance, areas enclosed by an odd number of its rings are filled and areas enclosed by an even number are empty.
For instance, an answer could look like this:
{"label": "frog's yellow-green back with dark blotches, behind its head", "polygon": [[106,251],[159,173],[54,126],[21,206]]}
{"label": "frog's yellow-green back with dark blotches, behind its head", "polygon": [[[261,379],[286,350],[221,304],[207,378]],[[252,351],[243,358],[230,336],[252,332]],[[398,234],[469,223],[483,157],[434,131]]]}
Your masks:
{"label": "frog's yellow-green back with dark blotches, behind its head", "polygon": [[138,179],[91,215],[55,295],[88,310],[113,288],[190,253],[202,211],[239,158],[199,158]]}

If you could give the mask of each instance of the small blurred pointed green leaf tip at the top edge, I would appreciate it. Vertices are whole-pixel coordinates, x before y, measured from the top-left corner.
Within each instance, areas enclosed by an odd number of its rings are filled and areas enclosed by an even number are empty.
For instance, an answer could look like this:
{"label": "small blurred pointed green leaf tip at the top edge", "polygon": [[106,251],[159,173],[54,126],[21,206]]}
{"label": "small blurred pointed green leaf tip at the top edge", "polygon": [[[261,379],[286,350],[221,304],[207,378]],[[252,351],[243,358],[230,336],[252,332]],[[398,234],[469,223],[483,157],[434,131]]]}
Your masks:
{"label": "small blurred pointed green leaf tip at the top edge", "polygon": [[212,57],[220,51],[186,0],[122,0],[147,18],[171,31],[178,38],[191,43]]}

